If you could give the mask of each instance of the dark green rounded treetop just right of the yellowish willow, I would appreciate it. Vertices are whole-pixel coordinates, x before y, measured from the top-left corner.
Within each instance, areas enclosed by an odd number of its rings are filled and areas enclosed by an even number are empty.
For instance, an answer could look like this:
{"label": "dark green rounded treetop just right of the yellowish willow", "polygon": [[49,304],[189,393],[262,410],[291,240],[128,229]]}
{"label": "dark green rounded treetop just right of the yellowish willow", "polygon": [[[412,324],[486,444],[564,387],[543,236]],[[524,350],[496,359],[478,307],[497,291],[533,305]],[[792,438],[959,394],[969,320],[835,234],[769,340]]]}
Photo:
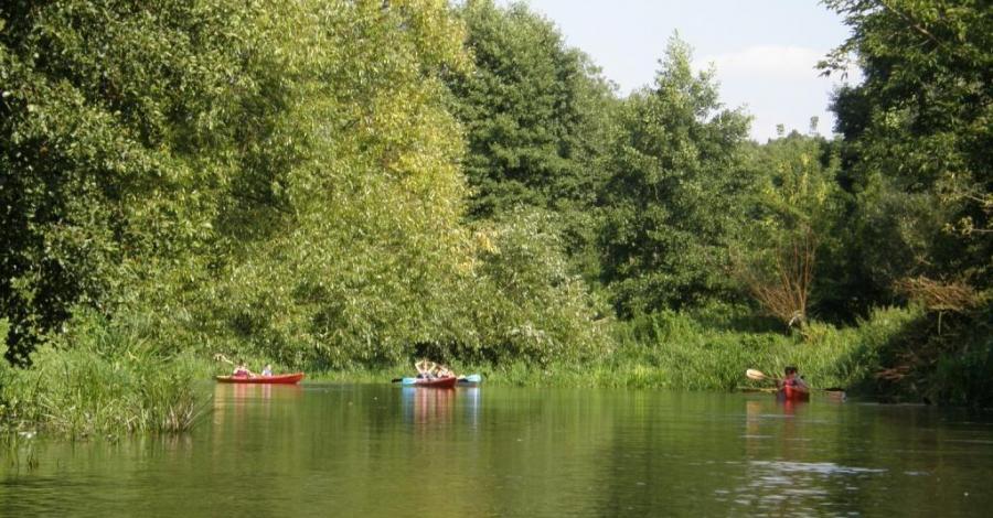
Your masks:
{"label": "dark green rounded treetop just right of the yellowish willow", "polygon": [[606,82],[522,3],[470,0],[458,13],[476,64],[448,77],[468,138],[470,214],[591,206],[602,182],[592,160],[612,104]]}

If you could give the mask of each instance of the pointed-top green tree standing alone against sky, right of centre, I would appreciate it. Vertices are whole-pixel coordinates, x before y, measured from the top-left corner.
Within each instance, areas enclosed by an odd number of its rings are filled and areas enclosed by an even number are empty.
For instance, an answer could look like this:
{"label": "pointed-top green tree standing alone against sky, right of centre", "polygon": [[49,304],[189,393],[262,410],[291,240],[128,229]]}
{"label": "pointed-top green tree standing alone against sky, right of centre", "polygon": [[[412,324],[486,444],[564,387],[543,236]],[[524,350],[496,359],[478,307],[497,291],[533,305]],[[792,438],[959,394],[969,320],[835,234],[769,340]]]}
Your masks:
{"label": "pointed-top green tree standing alone against sky, right of centre", "polygon": [[713,72],[690,64],[674,37],[655,87],[626,100],[609,151],[601,252],[622,315],[701,305],[730,288],[748,118],[722,109]]}

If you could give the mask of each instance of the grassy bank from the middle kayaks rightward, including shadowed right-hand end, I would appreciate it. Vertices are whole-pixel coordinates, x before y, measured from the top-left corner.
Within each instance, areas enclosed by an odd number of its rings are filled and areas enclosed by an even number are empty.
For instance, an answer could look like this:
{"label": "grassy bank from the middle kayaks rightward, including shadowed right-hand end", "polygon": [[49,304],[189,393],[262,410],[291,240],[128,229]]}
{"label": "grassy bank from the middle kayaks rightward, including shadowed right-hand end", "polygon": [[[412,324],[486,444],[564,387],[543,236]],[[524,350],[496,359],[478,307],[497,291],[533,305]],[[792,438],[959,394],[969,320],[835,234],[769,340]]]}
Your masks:
{"label": "grassy bank from the middle kayaks rightward, including shadowed right-hand end", "polygon": [[[873,311],[857,325],[811,323],[786,335],[732,314],[665,312],[616,322],[610,344],[583,361],[451,361],[484,382],[522,387],[627,387],[737,391],[770,387],[746,378],[757,368],[778,376],[797,366],[815,388],[843,388],[882,402],[989,408],[993,347],[983,315],[942,319],[921,307]],[[938,327],[943,326],[939,332]],[[384,382],[413,367],[310,373],[311,380]]]}

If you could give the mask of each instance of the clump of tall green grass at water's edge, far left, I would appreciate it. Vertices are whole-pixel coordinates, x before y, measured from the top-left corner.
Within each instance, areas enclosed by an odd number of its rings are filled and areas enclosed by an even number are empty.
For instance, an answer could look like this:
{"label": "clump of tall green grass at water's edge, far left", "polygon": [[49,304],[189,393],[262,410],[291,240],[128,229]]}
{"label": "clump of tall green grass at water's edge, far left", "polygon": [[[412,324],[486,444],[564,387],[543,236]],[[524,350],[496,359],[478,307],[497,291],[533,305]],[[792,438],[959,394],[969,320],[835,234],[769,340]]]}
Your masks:
{"label": "clump of tall green grass at water's edge, far left", "polygon": [[47,344],[29,368],[0,367],[0,427],[72,439],[183,432],[204,412],[191,353],[161,352],[117,326]]}

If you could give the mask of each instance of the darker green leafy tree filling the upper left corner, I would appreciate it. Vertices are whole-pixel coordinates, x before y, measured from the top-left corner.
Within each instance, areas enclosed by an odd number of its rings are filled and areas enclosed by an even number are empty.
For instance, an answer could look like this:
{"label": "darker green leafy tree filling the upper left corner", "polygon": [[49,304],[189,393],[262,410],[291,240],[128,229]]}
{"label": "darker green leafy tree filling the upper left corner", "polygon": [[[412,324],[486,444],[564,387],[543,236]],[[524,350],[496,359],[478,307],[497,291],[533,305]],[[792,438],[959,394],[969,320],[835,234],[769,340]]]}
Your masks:
{"label": "darker green leafy tree filling the upper left corner", "polygon": [[[233,3],[0,8],[0,312],[8,358],[76,304],[195,268],[258,85]],[[243,117],[247,116],[247,117]],[[202,256],[201,256],[202,257]]]}

